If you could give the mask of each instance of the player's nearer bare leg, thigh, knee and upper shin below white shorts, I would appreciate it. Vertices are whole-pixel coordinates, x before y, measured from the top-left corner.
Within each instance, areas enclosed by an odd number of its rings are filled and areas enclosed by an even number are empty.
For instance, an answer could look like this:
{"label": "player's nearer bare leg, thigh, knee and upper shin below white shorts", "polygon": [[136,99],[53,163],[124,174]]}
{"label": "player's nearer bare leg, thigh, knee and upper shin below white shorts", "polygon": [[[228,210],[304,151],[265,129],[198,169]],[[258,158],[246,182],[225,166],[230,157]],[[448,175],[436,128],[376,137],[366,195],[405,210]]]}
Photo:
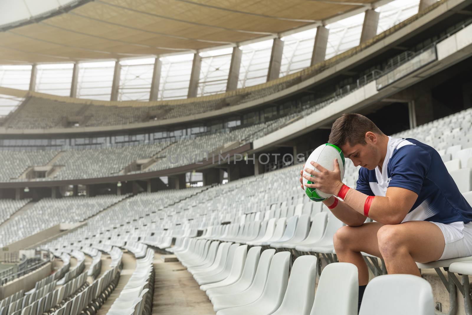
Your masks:
{"label": "player's nearer bare leg, thigh, knee and upper shin below white shorts", "polygon": [[445,247],[443,232],[428,221],[384,225],[378,230],[377,239],[388,273],[420,276],[415,262],[438,260]]}

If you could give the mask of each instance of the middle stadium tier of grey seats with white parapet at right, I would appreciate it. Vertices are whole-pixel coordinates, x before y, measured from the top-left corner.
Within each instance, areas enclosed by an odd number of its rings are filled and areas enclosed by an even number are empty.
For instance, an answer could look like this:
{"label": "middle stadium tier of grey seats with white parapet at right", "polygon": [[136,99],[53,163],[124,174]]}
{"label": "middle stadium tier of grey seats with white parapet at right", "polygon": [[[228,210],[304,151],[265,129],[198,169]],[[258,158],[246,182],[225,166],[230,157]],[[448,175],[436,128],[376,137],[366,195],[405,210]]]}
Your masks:
{"label": "middle stadium tier of grey seats with white parapet at right", "polygon": [[468,58],[472,55],[470,22],[398,63],[388,73],[371,77],[352,89],[348,85],[335,97],[278,119],[240,126],[230,132],[154,144],[85,150],[2,150],[0,156],[7,167],[0,173],[0,187],[51,187],[66,181],[87,184],[91,179],[94,183],[152,179],[204,170],[211,167],[215,157],[234,160],[260,153],[320,128],[342,112],[359,111]]}

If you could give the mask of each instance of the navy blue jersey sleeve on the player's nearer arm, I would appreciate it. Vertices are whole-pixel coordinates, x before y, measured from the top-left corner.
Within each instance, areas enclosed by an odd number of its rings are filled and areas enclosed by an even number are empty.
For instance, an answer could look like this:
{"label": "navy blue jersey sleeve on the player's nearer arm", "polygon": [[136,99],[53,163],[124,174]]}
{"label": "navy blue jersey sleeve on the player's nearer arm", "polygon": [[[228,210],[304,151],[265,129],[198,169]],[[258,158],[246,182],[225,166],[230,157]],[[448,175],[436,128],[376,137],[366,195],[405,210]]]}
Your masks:
{"label": "navy blue jersey sleeve on the player's nearer arm", "polygon": [[393,154],[389,164],[388,187],[405,188],[419,195],[430,169],[430,153],[418,145],[405,145]]}

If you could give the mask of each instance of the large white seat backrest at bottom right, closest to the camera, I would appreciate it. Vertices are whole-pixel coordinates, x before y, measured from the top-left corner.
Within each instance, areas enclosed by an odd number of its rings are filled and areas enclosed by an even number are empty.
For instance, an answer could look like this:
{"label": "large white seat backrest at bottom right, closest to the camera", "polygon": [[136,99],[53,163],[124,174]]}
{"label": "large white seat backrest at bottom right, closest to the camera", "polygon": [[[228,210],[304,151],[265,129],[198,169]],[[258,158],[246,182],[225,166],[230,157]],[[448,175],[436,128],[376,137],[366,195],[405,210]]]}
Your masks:
{"label": "large white seat backrest at bottom right, closest to the camera", "polygon": [[375,277],[365,289],[359,315],[379,313],[434,315],[430,283],[412,274],[386,274]]}

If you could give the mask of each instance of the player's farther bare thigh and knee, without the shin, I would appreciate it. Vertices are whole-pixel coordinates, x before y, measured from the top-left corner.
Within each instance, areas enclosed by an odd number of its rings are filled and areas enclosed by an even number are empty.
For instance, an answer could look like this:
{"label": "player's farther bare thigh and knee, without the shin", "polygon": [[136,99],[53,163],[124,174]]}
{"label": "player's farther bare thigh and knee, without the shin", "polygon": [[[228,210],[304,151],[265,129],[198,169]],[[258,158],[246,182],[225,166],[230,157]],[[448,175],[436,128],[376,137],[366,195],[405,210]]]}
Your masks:
{"label": "player's farther bare thigh and knee, without the shin", "polygon": [[383,226],[379,222],[367,222],[361,226],[343,226],[334,237],[336,251],[348,249],[381,257],[377,232]]}

